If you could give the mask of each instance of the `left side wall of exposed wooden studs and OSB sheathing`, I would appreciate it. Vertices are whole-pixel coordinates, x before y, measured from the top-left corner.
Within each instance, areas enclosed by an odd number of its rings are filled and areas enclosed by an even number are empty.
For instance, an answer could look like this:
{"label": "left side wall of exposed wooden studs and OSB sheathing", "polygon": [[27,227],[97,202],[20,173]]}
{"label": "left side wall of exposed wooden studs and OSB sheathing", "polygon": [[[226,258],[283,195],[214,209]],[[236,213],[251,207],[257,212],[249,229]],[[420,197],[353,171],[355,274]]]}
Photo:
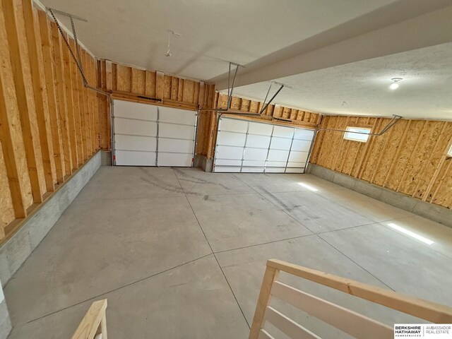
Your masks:
{"label": "left side wall of exposed wooden studs and OSB sheathing", "polygon": [[57,25],[30,0],[0,0],[0,63],[1,242],[99,149],[99,119]]}

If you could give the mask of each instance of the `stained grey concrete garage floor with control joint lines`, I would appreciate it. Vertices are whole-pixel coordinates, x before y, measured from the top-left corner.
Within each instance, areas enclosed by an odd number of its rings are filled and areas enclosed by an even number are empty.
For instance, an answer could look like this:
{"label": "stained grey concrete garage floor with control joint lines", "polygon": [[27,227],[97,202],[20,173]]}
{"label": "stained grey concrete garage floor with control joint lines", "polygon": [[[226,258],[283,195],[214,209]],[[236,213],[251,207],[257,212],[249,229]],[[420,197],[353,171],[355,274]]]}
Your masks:
{"label": "stained grey concrete garage floor with control joint lines", "polygon": [[[309,174],[101,167],[6,285],[9,338],[71,338],[103,298],[110,339],[247,338],[268,258],[452,305],[452,229],[405,210]],[[415,321],[281,279],[385,323]]]}

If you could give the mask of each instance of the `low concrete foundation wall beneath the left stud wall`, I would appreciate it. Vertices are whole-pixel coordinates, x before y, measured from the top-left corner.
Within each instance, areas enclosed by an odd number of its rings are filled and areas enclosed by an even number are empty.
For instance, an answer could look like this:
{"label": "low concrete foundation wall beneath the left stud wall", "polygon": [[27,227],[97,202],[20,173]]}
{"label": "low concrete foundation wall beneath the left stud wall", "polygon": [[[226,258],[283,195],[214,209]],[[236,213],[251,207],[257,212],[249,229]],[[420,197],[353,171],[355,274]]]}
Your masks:
{"label": "low concrete foundation wall beneath the left stud wall", "polygon": [[99,169],[100,164],[101,152],[97,152],[53,196],[42,203],[16,234],[0,247],[0,280],[3,285],[8,283],[16,270],[40,244],[64,210]]}

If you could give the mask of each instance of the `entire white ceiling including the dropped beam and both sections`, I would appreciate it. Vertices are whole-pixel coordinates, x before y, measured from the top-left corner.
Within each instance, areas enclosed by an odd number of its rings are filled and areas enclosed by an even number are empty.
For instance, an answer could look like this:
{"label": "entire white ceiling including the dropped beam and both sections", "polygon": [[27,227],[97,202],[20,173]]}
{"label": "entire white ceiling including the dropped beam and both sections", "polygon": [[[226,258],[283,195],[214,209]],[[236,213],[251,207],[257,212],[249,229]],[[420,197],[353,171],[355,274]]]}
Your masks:
{"label": "entire white ceiling including the dropped beam and both sections", "polygon": [[[101,59],[220,89],[233,61],[246,66],[237,95],[262,100],[277,80],[292,89],[276,102],[314,112],[451,119],[452,0],[41,2],[87,19],[78,38]],[[167,29],[182,34],[172,57]]]}

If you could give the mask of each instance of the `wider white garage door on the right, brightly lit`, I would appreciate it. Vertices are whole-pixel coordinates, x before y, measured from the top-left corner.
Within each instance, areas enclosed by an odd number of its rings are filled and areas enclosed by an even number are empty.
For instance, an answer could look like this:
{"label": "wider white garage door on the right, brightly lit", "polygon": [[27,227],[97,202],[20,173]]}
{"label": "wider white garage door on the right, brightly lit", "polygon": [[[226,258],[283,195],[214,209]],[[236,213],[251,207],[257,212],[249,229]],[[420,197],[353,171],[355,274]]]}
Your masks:
{"label": "wider white garage door on the right, brightly lit", "polygon": [[314,131],[222,117],[213,172],[304,173]]}

